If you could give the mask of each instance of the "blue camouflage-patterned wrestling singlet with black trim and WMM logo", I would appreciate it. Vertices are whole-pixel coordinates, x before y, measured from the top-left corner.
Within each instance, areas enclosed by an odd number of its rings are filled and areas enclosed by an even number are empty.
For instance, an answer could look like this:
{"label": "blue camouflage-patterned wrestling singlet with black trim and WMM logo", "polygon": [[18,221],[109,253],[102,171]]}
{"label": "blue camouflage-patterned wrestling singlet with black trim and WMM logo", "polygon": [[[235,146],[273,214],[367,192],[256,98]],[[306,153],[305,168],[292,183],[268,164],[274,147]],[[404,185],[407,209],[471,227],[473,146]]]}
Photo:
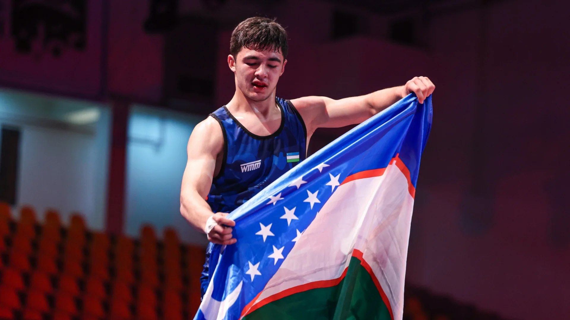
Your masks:
{"label": "blue camouflage-patterned wrestling singlet with black trim and WMM logo", "polygon": [[[281,109],[281,125],[269,136],[249,132],[232,116],[226,106],[211,113],[222,127],[223,161],[214,177],[206,202],[213,212],[231,212],[251,199],[306,158],[307,129],[291,101],[275,99]],[[200,277],[202,296],[210,282],[210,253]],[[215,259],[214,261],[217,261]]]}

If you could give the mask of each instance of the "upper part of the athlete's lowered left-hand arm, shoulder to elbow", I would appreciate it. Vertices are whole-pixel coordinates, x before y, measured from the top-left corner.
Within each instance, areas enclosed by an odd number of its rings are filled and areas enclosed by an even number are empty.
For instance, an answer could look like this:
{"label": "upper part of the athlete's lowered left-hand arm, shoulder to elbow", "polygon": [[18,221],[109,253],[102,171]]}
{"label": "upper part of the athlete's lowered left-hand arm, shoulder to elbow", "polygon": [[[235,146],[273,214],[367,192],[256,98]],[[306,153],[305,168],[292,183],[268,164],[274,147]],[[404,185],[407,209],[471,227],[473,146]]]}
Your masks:
{"label": "upper part of the athlete's lowered left-hand arm, shoulder to elbow", "polygon": [[194,127],[186,149],[188,162],[182,176],[183,196],[185,192],[198,192],[202,199],[206,198],[222,149],[222,130],[217,121],[209,117]]}

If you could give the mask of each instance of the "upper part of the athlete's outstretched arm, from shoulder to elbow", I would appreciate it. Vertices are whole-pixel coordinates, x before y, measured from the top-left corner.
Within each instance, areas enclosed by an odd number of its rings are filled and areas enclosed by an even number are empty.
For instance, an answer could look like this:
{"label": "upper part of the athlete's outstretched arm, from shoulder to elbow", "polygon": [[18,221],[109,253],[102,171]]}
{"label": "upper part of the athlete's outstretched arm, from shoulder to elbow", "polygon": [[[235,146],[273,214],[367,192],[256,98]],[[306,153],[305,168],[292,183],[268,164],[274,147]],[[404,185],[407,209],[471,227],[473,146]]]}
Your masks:
{"label": "upper part of the athlete's outstretched arm, from shoulder to elbow", "polygon": [[369,118],[372,113],[364,96],[339,100],[310,96],[294,99],[291,102],[312,131],[316,128],[339,128],[359,124]]}

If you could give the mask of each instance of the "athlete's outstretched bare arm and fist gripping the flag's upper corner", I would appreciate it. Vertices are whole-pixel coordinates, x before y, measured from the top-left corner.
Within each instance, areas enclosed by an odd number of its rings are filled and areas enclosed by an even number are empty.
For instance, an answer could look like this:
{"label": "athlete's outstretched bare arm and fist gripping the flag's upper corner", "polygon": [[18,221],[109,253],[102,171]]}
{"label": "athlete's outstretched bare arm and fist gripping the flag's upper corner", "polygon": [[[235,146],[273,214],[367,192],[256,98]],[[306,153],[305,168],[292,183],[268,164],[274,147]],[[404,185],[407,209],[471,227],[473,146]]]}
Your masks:
{"label": "athlete's outstretched bare arm and fist gripping the flag's upper corner", "polygon": [[435,85],[427,77],[414,77],[401,87],[382,89],[364,96],[339,100],[311,96],[293,99],[291,102],[303,117],[307,132],[311,134],[317,128],[360,124],[412,92],[416,93],[420,103],[424,103],[434,89]]}

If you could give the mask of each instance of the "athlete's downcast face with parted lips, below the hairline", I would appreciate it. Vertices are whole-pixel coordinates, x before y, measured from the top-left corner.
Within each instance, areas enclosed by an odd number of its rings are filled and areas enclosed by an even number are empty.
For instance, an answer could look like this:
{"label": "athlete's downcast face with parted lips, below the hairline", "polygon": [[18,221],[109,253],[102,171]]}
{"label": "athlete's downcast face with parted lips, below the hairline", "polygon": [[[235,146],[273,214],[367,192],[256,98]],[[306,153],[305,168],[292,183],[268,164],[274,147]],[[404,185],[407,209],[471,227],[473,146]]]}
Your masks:
{"label": "athlete's downcast face with parted lips, below the hairline", "polygon": [[254,101],[263,101],[275,92],[287,60],[283,58],[281,51],[242,48],[235,59],[229,55],[227,62],[235,73],[235,85],[243,95]]}

